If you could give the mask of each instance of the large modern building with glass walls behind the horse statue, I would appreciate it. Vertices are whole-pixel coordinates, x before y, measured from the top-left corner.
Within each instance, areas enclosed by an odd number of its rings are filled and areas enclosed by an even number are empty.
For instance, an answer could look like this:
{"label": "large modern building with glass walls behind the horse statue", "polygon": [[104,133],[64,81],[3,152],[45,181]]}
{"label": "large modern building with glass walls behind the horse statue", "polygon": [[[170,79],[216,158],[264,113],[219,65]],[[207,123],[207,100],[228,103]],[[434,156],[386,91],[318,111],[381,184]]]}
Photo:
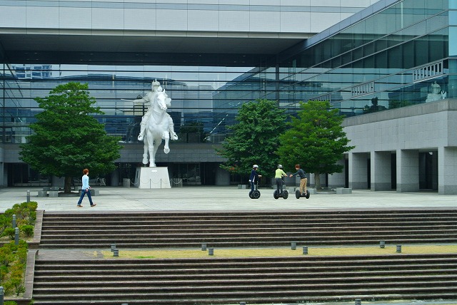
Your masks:
{"label": "large modern building with glass walls behind the horse statue", "polygon": [[97,118],[123,140],[107,182],[133,179],[146,109],[129,100],[157,79],[179,135],[157,162],[184,184],[229,185],[214,148],[242,103],[293,114],[330,100],[356,148],[329,187],[457,193],[455,1],[153,2],[0,1],[1,185],[52,179],[19,160],[19,143],[34,98],[69,81],[89,83]]}

